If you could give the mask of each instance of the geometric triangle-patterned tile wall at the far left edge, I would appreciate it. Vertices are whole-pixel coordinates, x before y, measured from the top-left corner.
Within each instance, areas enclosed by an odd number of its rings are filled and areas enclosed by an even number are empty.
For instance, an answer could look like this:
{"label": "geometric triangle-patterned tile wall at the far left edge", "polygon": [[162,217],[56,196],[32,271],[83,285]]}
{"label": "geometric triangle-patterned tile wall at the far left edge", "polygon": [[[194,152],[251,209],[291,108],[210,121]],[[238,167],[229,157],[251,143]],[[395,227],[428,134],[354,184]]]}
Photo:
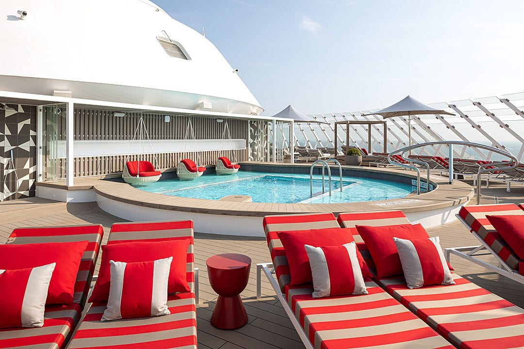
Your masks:
{"label": "geometric triangle-patterned tile wall at the far left edge", "polygon": [[35,196],[36,108],[7,104],[0,109],[0,201]]}

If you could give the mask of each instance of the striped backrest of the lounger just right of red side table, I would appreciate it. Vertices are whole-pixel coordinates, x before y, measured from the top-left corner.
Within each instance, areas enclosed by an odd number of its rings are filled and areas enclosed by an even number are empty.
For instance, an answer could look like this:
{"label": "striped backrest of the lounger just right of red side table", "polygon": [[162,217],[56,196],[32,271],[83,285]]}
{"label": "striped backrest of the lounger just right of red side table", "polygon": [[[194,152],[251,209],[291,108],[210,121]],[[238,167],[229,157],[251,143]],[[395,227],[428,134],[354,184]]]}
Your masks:
{"label": "striped backrest of the lounger just right of red side table", "polygon": [[266,216],[263,221],[267,245],[277,274],[277,280],[283,291],[291,282],[289,264],[284,248],[277,236],[279,231],[297,231],[307,229],[340,228],[333,213],[306,213],[304,215]]}

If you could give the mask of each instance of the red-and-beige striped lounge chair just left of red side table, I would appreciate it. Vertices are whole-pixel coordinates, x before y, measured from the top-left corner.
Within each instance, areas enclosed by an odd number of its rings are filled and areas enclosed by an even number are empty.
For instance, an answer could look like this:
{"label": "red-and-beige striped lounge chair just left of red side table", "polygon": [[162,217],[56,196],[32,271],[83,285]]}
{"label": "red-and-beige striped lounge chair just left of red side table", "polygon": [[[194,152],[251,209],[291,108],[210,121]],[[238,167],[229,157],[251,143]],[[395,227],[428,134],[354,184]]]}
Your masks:
{"label": "red-and-beige striped lounge chair just left of red side table", "polygon": [[[193,273],[193,222],[115,223],[107,244],[131,241],[191,239],[187,280],[198,292]],[[196,277],[198,280],[198,275]],[[168,296],[171,314],[159,317],[101,322],[105,303],[93,303],[85,314],[69,348],[184,348],[196,349],[196,300],[193,292]]]}

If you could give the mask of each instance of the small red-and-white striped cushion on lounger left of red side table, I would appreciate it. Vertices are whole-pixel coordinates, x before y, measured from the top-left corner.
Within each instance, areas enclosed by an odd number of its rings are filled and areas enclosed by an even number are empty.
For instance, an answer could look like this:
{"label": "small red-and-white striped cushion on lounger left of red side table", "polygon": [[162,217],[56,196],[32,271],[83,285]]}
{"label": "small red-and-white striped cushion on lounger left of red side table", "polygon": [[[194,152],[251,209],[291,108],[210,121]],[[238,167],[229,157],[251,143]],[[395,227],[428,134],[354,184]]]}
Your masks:
{"label": "small red-and-white striped cushion on lounger left of red side table", "polygon": [[173,257],[149,262],[110,261],[111,287],[101,321],[168,315],[167,284]]}

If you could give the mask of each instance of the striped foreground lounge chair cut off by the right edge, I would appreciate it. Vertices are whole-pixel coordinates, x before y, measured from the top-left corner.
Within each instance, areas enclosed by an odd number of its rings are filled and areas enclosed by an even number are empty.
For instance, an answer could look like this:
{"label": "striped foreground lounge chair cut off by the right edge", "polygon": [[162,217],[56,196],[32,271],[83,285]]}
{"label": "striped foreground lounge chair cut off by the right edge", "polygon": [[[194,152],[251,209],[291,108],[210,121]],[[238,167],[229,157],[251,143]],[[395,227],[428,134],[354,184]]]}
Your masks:
{"label": "striped foreground lounge chair cut off by the right edge", "polygon": [[[524,285],[524,261],[520,260],[507,242],[495,230],[486,218],[487,215],[524,215],[524,211],[515,204],[462,207],[457,218],[471,231],[481,245],[446,249],[446,259],[449,261],[450,255],[453,254]],[[485,255],[483,251],[488,251],[492,254],[498,265],[493,265],[478,258],[478,256]],[[522,269],[520,269],[520,263],[523,265]]]}

